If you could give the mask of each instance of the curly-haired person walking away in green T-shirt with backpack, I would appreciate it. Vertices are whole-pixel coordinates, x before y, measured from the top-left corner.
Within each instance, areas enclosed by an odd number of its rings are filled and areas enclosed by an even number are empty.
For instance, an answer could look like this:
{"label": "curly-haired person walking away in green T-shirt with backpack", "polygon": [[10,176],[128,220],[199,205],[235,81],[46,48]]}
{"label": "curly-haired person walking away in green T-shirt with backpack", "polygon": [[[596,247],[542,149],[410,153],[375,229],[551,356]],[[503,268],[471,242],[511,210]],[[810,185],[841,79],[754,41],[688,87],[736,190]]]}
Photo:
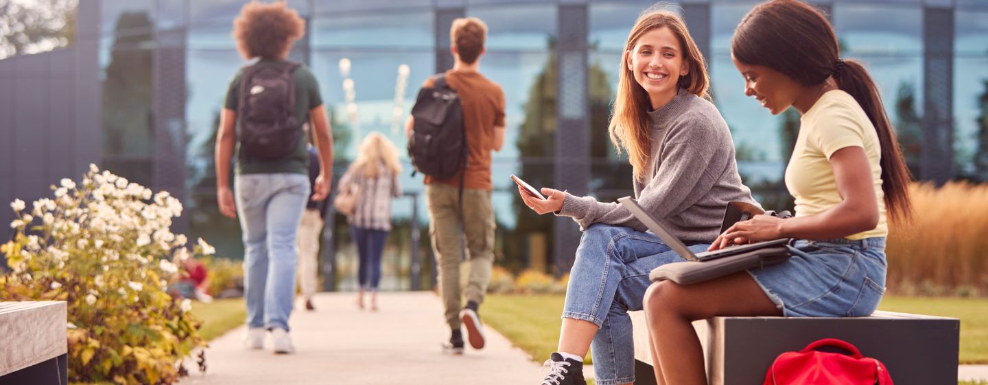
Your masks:
{"label": "curly-haired person walking away in green T-shirt with backpack", "polygon": [[[320,172],[312,199],[330,191],[332,148],[315,76],[287,60],[305,22],[284,2],[244,5],[233,38],[246,59],[256,59],[230,81],[216,135],[219,211],[240,219],[244,242],[244,299],[248,348],[263,348],[267,331],[276,353],[294,351],[288,316],[298,263],[297,230],[309,200],[308,153],[302,123],[319,149]],[[234,158],[235,157],[235,158]],[[233,182],[230,189],[230,161]]]}

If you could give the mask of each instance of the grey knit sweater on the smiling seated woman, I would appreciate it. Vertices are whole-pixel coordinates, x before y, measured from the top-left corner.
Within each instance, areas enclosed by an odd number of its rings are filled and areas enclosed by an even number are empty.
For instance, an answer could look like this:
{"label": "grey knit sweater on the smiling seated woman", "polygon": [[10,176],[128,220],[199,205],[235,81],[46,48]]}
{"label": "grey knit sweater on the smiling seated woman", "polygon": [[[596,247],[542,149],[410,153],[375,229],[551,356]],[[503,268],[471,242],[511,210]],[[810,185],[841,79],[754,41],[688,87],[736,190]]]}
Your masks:
{"label": "grey knit sweater on the smiling seated woman", "polygon": [[[731,132],[713,104],[680,90],[648,116],[650,164],[644,181],[634,181],[634,196],[674,236],[712,242],[728,201],[759,205],[741,184]],[[648,230],[620,204],[592,196],[567,194],[557,215],[572,217],[581,231],[595,223]]]}

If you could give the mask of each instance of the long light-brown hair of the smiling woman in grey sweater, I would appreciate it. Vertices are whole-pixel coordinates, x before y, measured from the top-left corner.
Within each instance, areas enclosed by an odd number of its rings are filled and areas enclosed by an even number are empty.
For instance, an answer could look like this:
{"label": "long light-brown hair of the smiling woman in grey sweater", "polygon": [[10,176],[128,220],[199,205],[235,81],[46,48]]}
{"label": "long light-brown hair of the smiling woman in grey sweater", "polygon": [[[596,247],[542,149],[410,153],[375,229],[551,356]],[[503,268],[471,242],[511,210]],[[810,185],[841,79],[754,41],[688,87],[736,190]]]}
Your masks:
{"label": "long light-brown hair of the smiling woman in grey sweater", "polygon": [[690,69],[687,75],[680,77],[679,87],[700,98],[709,100],[709,75],[706,73],[706,63],[697,42],[690,36],[683,19],[675,12],[663,9],[649,9],[638,17],[631,28],[631,33],[624,43],[624,52],[620,56],[620,68],[617,75],[617,96],[615,97],[614,113],[608,130],[611,141],[617,147],[627,151],[628,162],[634,170],[634,179],[644,180],[645,170],[651,155],[651,128],[649,127],[648,111],[651,104],[648,93],[634,80],[634,73],[627,68],[628,55],[634,49],[634,44],[646,33],[667,27],[683,47],[683,63]]}

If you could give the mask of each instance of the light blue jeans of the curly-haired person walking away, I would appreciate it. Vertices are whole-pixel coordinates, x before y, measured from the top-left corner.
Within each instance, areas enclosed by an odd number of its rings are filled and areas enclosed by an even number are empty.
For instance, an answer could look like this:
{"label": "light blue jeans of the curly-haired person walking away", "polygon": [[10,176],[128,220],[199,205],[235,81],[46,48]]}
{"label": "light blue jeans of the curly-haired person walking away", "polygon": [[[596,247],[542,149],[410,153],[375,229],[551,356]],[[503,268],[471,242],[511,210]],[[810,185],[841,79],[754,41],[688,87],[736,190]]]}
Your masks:
{"label": "light blue jeans of the curly-haired person walking away", "polygon": [[288,331],[298,267],[298,224],[309,195],[303,174],[234,177],[244,240],[244,298],[250,328]]}

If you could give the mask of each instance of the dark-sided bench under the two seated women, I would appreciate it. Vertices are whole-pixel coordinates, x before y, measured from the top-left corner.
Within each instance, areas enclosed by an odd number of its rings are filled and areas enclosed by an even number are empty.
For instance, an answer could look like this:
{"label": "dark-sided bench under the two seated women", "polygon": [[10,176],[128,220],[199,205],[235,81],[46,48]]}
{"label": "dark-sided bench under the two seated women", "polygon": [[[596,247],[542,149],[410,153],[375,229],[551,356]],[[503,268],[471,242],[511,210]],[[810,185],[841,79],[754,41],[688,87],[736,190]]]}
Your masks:
{"label": "dark-sided bench under the two seated women", "polygon": [[[655,384],[644,312],[631,312],[636,385]],[[776,357],[814,341],[847,341],[882,361],[896,385],[955,384],[960,321],[874,312],[860,318],[715,317],[697,321],[711,385],[761,384]]]}

